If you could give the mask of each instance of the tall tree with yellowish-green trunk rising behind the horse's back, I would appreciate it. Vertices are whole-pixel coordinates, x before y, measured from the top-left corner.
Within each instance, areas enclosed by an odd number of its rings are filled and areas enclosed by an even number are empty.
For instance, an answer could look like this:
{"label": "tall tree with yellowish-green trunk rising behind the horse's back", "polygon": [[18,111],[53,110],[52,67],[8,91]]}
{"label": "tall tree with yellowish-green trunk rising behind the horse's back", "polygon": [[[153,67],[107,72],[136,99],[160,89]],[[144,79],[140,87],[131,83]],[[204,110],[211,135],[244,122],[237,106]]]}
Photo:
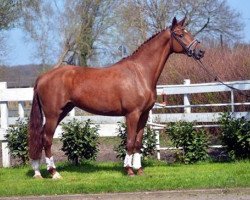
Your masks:
{"label": "tall tree with yellowish-green trunk rising behind the horse's back", "polygon": [[[103,35],[115,23],[112,10],[117,5],[114,0],[66,0],[66,26],[64,26],[64,52],[73,52],[73,58],[81,66],[87,66],[87,61],[98,51],[99,47],[106,46]],[[64,56],[65,55],[65,56]],[[61,58],[61,60],[62,60]],[[60,60],[60,61],[61,61]],[[59,64],[60,64],[59,61]]]}

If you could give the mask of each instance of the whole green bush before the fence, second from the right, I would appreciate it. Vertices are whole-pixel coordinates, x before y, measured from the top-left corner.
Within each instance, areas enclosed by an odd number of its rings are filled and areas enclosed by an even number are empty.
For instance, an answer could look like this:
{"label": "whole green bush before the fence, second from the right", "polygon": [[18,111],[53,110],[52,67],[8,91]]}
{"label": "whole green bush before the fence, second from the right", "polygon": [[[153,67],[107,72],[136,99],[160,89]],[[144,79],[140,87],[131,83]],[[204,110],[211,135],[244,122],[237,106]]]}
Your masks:
{"label": "whole green bush before the fence, second from the right", "polygon": [[193,123],[183,121],[172,123],[167,134],[176,148],[183,148],[183,154],[177,151],[181,162],[189,164],[208,158],[206,132],[203,129],[195,130]]}

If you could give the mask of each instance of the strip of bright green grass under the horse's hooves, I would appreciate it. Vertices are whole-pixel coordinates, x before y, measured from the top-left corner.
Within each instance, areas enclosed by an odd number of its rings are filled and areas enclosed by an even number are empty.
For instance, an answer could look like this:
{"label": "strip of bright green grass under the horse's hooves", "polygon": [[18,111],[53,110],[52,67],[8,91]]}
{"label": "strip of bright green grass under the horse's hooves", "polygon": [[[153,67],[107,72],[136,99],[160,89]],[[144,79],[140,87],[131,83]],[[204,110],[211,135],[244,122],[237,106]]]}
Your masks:
{"label": "strip of bright green grass under the horse's hooves", "polygon": [[30,167],[0,168],[0,196],[134,192],[170,189],[250,187],[250,161],[194,165],[147,161],[145,175],[127,177],[120,163],[59,163],[62,180],[32,178]]}

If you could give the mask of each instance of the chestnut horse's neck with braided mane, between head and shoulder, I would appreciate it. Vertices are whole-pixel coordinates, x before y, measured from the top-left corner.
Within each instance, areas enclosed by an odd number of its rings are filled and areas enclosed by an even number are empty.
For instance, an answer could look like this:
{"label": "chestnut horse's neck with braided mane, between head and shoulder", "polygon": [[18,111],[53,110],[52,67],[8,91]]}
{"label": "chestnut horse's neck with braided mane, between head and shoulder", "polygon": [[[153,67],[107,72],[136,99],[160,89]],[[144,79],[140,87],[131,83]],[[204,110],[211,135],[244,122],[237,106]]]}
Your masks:
{"label": "chestnut horse's neck with braided mane, between head and shoulder", "polygon": [[168,30],[162,31],[142,47],[132,56],[133,61],[139,66],[144,77],[152,88],[156,87],[157,81],[171,54],[170,33]]}

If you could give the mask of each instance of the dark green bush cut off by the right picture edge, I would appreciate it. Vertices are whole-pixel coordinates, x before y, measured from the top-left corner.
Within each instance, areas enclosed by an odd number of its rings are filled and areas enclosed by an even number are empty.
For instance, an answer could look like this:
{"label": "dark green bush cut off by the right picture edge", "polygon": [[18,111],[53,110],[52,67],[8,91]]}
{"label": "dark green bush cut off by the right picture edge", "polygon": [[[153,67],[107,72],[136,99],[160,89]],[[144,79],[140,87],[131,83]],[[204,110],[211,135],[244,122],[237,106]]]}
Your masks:
{"label": "dark green bush cut off by the right picture edge", "polygon": [[250,122],[224,113],[219,119],[221,139],[232,160],[250,158]]}

